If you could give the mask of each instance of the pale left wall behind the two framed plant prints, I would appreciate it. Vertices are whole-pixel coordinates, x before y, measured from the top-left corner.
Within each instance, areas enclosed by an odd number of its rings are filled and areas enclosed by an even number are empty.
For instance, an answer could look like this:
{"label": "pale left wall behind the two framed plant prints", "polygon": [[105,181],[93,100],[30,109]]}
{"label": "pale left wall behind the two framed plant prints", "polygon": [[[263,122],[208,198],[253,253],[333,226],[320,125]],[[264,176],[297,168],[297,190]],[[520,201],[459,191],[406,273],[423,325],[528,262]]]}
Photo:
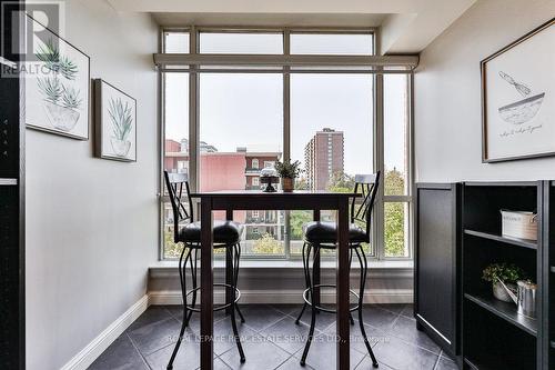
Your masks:
{"label": "pale left wall behind the two framed plant prints", "polygon": [[[158,28],[107,1],[67,1],[65,39],[137,98],[138,162],[27,130],[27,361],[59,369],[147,292],[158,259]],[[92,129],[92,122],[91,122]],[[92,133],[91,133],[92,137]]]}

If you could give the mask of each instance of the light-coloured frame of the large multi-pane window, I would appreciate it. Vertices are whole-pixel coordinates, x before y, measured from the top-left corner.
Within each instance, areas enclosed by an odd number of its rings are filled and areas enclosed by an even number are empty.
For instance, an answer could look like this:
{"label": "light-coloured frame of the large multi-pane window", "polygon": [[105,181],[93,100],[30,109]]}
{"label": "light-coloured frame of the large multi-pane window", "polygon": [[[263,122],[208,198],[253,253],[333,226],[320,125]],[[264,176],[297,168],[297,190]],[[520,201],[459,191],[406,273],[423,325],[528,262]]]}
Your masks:
{"label": "light-coloured frame of the large multi-pane window", "polygon": [[[195,26],[186,26],[186,27],[161,27],[160,28],[160,39],[159,39],[159,54],[164,53],[164,33],[165,32],[171,32],[171,31],[178,31],[178,32],[189,32],[189,53],[185,53],[183,56],[195,56],[200,54],[200,32],[233,32],[233,33],[242,33],[242,32],[262,32],[262,33],[268,33],[268,32],[282,32],[283,34],[283,54],[272,54],[275,57],[276,60],[283,60],[283,57],[289,57],[291,56],[290,53],[290,36],[291,33],[370,33],[372,34],[372,50],[373,54],[369,58],[387,58],[387,57],[380,57],[380,43],[379,43],[379,29],[377,28],[315,28],[315,27],[300,27],[300,28],[276,28],[276,27],[270,27],[270,28],[250,28],[250,27],[226,27],[226,28],[219,28],[219,27],[195,27]],[[211,54],[203,54],[204,57],[211,56]],[[234,54],[228,54],[228,53],[222,53],[222,54],[214,54],[214,56],[230,56],[231,58],[234,57]],[[260,54],[240,54],[236,57],[246,57],[246,56],[253,56],[254,58],[260,57]],[[154,56],[157,57],[157,56]],[[268,56],[264,56],[268,57]],[[295,54],[295,57],[305,57],[302,54]],[[315,57],[316,59],[320,57],[334,57],[334,60],[350,60],[352,59],[353,61],[357,58],[361,57],[360,54],[354,54],[354,56],[347,56],[347,54],[342,54],[342,56],[321,56],[321,54],[315,54],[311,56]],[[339,57],[339,58],[337,58]],[[396,57],[392,57],[392,60],[398,60],[400,66],[403,62],[403,57],[404,56],[398,56],[400,58],[395,59]],[[408,58],[408,56],[406,57]],[[157,59],[157,58],[154,58]],[[381,60],[381,59],[380,59]],[[356,66],[360,66],[360,58],[356,61]],[[392,66],[395,63],[392,62]],[[354,66],[354,64],[353,64]],[[377,67],[376,67],[377,66]],[[376,63],[375,66],[372,64],[372,69],[332,69],[332,70],[326,70],[322,68],[303,68],[302,70],[293,70],[293,68],[289,64],[283,64],[280,68],[273,68],[271,70],[264,70],[262,67],[260,69],[255,68],[246,68],[246,69],[225,69],[224,67],[221,68],[221,72],[270,72],[270,73],[279,73],[282,74],[283,78],[283,160],[290,159],[291,156],[291,117],[290,117],[290,98],[291,98],[291,84],[290,84],[290,76],[291,73],[302,73],[302,72],[310,72],[310,73],[370,73],[372,74],[373,78],[373,96],[374,96],[374,101],[373,108],[374,108],[374,117],[372,122],[369,122],[372,124],[373,128],[373,159],[374,159],[374,169],[380,170],[382,174],[384,176],[384,137],[383,137],[383,124],[384,124],[384,116],[383,116],[383,74],[385,73],[403,73],[408,76],[408,82],[407,82],[407,111],[408,111],[408,127],[406,129],[406,142],[407,142],[407,194],[406,196],[384,196],[384,188],[380,187],[379,196],[376,199],[376,206],[374,207],[374,216],[373,216],[373,224],[372,224],[372,244],[373,244],[373,253],[369,256],[369,260],[412,260],[413,259],[413,250],[414,250],[414,199],[413,199],[413,193],[414,193],[414,173],[413,173],[413,168],[414,168],[414,138],[413,138],[413,94],[414,94],[414,89],[413,89],[413,68],[411,69],[405,69],[405,70],[387,70],[387,68],[383,67],[385,64],[380,64]],[[374,69],[375,67],[375,69]],[[406,66],[405,66],[406,67]],[[158,68],[158,74],[159,74],[159,88],[160,88],[160,99],[159,99],[159,134],[160,134],[160,181],[159,181],[159,200],[160,200],[160,207],[159,207],[159,221],[160,221],[160,247],[159,247],[159,259],[160,260],[171,260],[171,258],[165,258],[164,256],[164,237],[163,237],[163,226],[164,226],[164,220],[163,220],[163,213],[164,213],[164,203],[168,201],[168,197],[164,197],[164,180],[163,180],[163,161],[164,161],[164,140],[165,140],[165,116],[164,116],[164,101],[165,101],[165,88],[164,88],[164,73],[172,73],[172,72],[188,72],[189,73],[189,174],[190,174],[190,184],[191,184],[191,190],[195,191],[198,189],[199,184],[199,176],[198,176],[198,170],[199,170],[199,161],[200,161],[200,153],[198,152],[199,149],[199,77],[201,73],[212,73],[212,72],[219,72],[218,68],[216,69],[206,69],[202,70],[201,66],[199,64],[188,64],[183,68],[183,66],[179,66],[175,68],[168,68],[167,66],[160,66]],[[260,169],[260,163],[259,163],[259,169]],[[382,180],[382,183],[384,181]],[[408,256],[407,257],[385,257],[385,244],[384,244],[384,203],[385,202],[406,202],[407,206],[407,244],[408,244]],[[289,229],[290,224],[290,212],[285,211],[285,218],[284,218],[284,224],[285,228]],[[291,244],[290,244],[290,238],[289,238],[290,232],[285,232],[285,238],[284,238],[284,250],[285,253],[284,256],[245,256],[246,258],[251,259],[260,259],[260,260],[268,260],[268,259],[284,259],[284,260],[297,260],[300,259],[300,256],[296,254],[291,254]]]}

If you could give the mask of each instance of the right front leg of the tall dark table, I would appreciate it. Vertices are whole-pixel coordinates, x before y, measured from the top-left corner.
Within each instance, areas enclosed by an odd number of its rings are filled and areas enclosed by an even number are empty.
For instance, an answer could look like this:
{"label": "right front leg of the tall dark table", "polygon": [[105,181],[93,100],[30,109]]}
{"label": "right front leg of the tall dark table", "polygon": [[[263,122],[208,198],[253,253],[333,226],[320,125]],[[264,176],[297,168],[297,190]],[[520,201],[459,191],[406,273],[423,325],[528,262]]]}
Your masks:
{"label": "right front leg of the tall dark table", "polygon": [[349,203],[337,204],[337,369],[350,369],[349,351]]}

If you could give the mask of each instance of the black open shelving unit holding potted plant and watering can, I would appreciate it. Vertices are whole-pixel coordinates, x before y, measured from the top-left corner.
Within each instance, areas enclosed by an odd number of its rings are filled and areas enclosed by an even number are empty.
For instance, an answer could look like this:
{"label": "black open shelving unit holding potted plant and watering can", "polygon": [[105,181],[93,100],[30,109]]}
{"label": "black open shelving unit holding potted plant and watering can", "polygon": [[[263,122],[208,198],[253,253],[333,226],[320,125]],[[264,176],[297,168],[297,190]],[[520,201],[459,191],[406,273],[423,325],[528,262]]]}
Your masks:
{"label": "black open shelving unit holding potted plant and watering can", "polygon": [[537,211],[542,220],[544,186],[542,181],[463,184],[460,340],[464,369],[542,369],[542,294],[536,319],[526,318],[514,303],[493,297],[482,271],[494,262],[515,263],[542,291],[542,234],[537,241],[503,237],[500,211]]}

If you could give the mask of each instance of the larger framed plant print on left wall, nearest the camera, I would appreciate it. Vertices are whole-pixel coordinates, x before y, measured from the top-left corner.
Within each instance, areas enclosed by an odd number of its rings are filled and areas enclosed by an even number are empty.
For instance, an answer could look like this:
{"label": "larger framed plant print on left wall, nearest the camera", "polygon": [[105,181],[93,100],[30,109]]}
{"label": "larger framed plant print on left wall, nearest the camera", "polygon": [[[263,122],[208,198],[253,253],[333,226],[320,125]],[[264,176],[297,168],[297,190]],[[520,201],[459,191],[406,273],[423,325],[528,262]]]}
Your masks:
{"label": "larger framed plant print on left wall, nearest the camera", "polygon": [[27,127],[89,140],[90,58],[33,18],[27,21],[28,29],[44,29],[26,61]]}

